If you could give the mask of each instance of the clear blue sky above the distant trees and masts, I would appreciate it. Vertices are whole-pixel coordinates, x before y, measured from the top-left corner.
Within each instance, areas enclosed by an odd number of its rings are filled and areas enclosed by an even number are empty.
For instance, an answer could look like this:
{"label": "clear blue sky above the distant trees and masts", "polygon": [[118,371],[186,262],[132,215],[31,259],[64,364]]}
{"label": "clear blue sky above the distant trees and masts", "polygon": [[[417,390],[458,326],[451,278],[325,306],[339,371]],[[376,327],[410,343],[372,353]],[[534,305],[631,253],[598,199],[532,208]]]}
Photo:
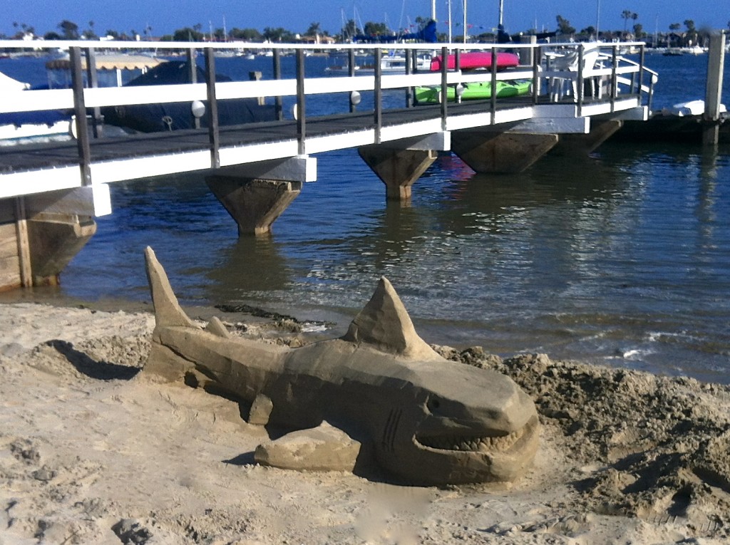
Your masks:
{"label": "clear blue sky above the distant trees and masts", "polygon": [[[283,27],[293,32],[304,32],[310,23],[337,34],[342,28],[342,18],[356,18],[358,23],[367,21],[387,22],[391,28],[408,26],[417,16],[429,17],[430,0],[25,0],[4,2],[4,15],[0,32],[14,34],[13,22],[34,26],[44,34],[56,30],[61,20],[77,23],[80,30],[93,21],[96,34],[107,29],[142,34],[145,26],[152,34],[172,34],[176,28],[201,24],[202,30],[222,28]],[[452,20],[463,20],[462,0],[451,0]],[[472,0],[467,2],[467,23],[475,28],[491,28],[496,25],[499,0]],[[437,0],[439,31],[446,31],[447,0]],[[694,20],[696,27],[726,28],[730,20],[730,0],[504,0],[504,24],[507,30],[518,31],[537,28],[555,30],[556,15],[570,21],[577,29],[596,26],[600,6],[599,28],[622,30],[625,9],[637,13],[637,23],[645,31],[666,31],[671,23]],[[716,14],[723,14],[718,17]],[[634,21],[629,20],[629,27]],[[683,26],[684,28],[684,26]],[[456,31],[456,27],[454,28]],[[458,31],[461,33],[461,31]]]}

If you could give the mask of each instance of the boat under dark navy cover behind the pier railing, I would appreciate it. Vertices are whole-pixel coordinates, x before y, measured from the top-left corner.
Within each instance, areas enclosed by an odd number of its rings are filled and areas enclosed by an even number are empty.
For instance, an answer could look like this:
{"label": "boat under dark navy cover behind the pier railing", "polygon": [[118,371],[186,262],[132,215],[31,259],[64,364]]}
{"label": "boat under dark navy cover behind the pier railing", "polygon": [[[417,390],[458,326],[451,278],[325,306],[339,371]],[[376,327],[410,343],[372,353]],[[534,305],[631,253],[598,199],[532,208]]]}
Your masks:
{"label": "boat under dark navy cover behind the pier railing", "polygon": [[[196,78],[205,81],[205,72],[196,66]],[[215,75],[216,82],[228,82],[231,78]],[[134,78],[123,87],[139,85],[180,85],[190,83],[190,69],[187,61],[166,61],[145,74]],[[126,106],[102,107],[105,125],[113,125],[131,131],[151,133],[158,131],[174,131],[185,128],[196,128],[196,116],[193,115],[193,104],[190,102],[171,102],[166,104],[131,104]],[[207,107],[207,101],[202,102]],[[256,98],[233,98],[218,101],[218,125],[242,125],[256,121],[272,121],[275,119],[273,104],[259,104]],[[197,116],[199,125],[207,127],[207,117]]]}

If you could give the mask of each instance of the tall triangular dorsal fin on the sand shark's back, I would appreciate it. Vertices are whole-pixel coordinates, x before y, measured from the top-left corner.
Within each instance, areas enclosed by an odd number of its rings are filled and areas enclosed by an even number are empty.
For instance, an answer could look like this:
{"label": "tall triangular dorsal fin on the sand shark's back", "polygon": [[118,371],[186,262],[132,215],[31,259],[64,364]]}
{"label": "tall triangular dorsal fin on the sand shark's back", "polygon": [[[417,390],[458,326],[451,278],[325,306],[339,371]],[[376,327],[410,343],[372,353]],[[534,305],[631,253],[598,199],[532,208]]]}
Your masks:
{"label": "tall triangular dorsal fin on the sand shark's back", "polygon": [[350,323],[342,337],[345,341],[372,344],[383,352],[405,357],[438,357],[418,336],[408,311],[387,278],[381,277],[377,289],[364,309]]}

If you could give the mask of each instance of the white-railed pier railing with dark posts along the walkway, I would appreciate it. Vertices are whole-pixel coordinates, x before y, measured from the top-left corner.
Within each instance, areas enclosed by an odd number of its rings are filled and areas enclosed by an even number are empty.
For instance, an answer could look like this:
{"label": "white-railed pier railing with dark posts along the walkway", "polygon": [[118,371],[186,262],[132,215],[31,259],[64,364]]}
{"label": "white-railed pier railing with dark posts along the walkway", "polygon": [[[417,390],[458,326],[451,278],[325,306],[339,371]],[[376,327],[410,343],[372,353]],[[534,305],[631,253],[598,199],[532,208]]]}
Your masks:
{"label": "white-railed pier railing with dark posts along the walkway", "polygon": [[[247,42],[89,42],[89,41],[0,41],[0,50],[17,53],[69,52],[72,69],[72,88],[23,90],[7,93],[0,101],[0,113],[34,112],[42,110],[65,110],[75,114],[75,131],[82,171],[82,185],[91,184],[89,165],[91,155],[89,141],[96,131],[89,131],[88,117],[99,118],[101,107],[123,107],[134,104],[166,104],[205,102],[202,115],[207,116],[207,131],[210,137],[211,168],[218,166],[220,123],[218,101],[234,98],[257,98],[259,101],[273,101],[274,120],[296,119],[299,153],[307,152],[307,121],[312,119],[307,103],[318,95],[331,95],[328,104],[331,114],[353,112],[363,108],[360,104],[364,93],[372,97],[372,127],[374,143],[381,141],[383,111],[418,107],[414,89],[432,87],[439,90],[440,115],[445,130],[450,115],[458,115],[460,90],[472,82],[489,82],[491,98],[484,101],[484,111],[489,112],[490,123],[496,123],[496,112],[500,107],[496,90],[497,82],[529,81],[531,92],[522,97],[527,104],[572,104],[577,117],[590,115],[586,108],[600,102],[610,103],[610,110],[626,98],[634,98],[634,107],[650,106],[656,72],[647,69],[644,63],[642,42],[621,43],[556,43],[556,44],[393,44],[388,49],[402,52],[407,59],[402,73],[383,69],[383,48],[385,45],[301,45],[301,44],[252,44]],[[621,55],[621,51],[636,51],[633,58]],[[460,55],[469,51],[491,53],[491,69],[461,70]],[[518,53],[520,63],[510,69],[497,70],[498,53],[510,50]],[[192,82],[180,85],[145,85],[137,87],[101,88],[96,85],[94,58],[107,52],[140,52],[159,57],[185,55],[189,61],[204,59],[206,82]],[[215,82],[215,61],[219,55],[270,56],[272,78],[249,81]],[[374,58],[372,74],[356,70],[358,54],[369,54]],[[310,73],[306,62],[309,55],[347,55],[347,70],[342,74],[331,72]],[[456,66],[449,69],[441,63],[439,71],[418,69],[417,59],[423,55],[455,55]],[[286,77],[282,71],[282,57],[294,55],[296,70]],[[82,61],[85,59],[85,69]],[[243,61],[243,59],[242,59]],[[198,61],[199,62],[199,61]],[[91,82],[91,85],[89,85]],[[445,97],[453,88],[455,101]],[[393,101],[393,90],[403,90],[402,101]],[[388,91],[388,93],[386,93]],[[386,95],[388,96],[386,100]],[[293,105],[285,107],[285,101]],[[96,113],[95,113],[96,112]],[[323,112],[318,112],[322,115]],[[198,112],[200,115],[201,112]]]}

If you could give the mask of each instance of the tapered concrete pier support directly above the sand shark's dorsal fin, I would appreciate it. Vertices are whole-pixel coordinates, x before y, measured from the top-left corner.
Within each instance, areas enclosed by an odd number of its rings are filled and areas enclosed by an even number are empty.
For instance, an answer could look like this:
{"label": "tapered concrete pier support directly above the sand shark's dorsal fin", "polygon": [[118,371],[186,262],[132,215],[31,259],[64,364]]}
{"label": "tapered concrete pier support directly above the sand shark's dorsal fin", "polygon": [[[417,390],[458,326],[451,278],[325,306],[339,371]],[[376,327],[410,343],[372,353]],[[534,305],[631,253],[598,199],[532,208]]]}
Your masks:
{"label": "tapered concrete pier support directly above the sand shark's dorsal fin", "polygon": [[396,149],[378,144],[358,147],[358,154],[385,184],[385,198],[401,202],[410,201],[413,183],[437,158],[435,150]]}

